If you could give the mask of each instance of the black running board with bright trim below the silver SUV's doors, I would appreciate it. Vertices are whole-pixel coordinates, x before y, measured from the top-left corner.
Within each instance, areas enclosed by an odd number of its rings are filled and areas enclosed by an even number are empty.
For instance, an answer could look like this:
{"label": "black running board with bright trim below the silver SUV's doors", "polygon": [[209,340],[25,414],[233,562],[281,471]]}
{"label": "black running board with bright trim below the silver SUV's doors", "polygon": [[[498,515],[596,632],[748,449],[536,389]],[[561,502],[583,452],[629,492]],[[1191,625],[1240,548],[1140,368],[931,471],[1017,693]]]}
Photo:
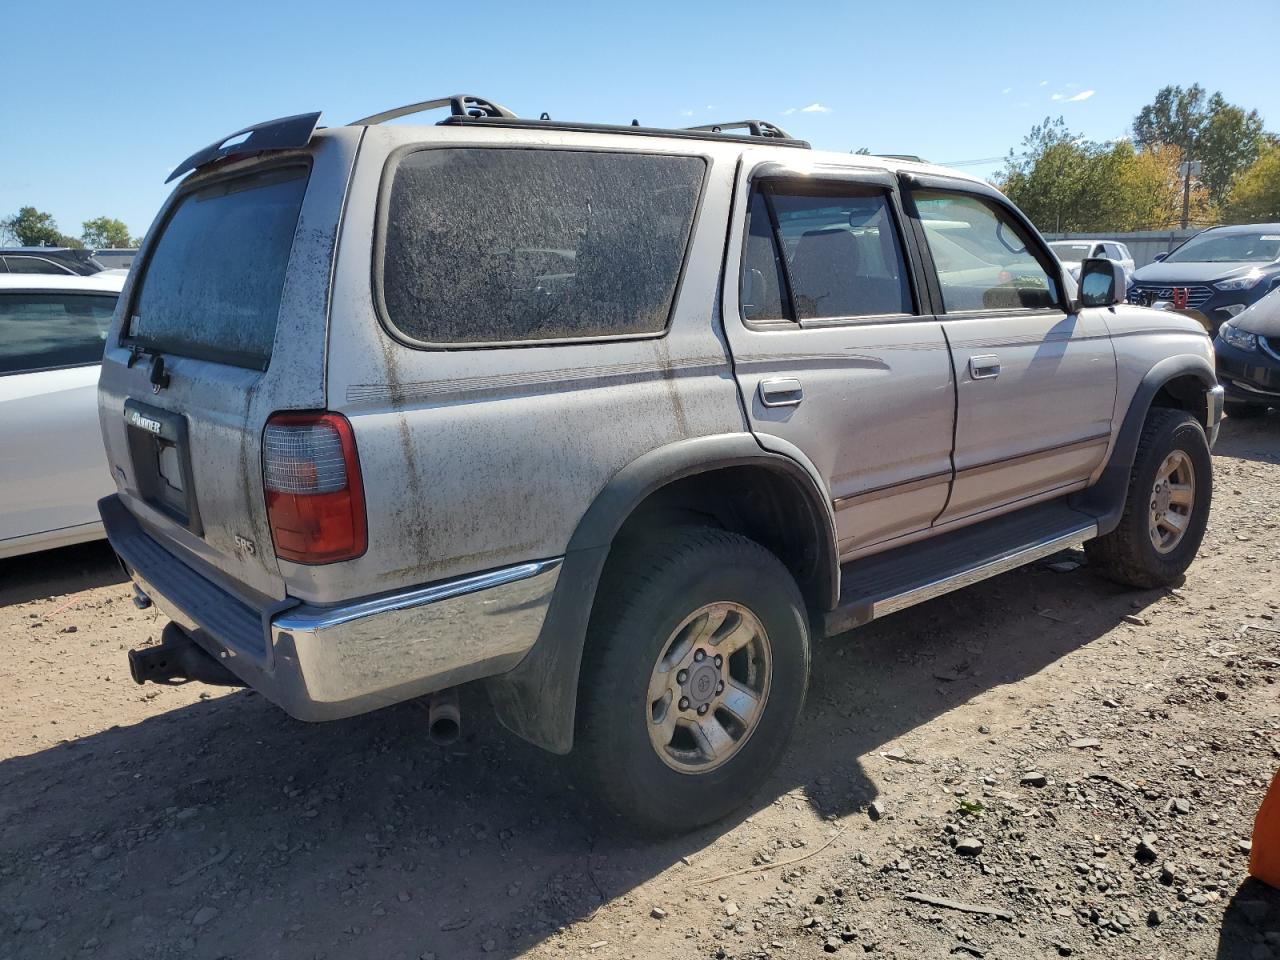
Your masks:
{"label": "black running board with bright trim below the silver SUV's doors", "polygon": [[827,614],[826,635],[1079,547],[1097,532],[1094,517],[1055,500],[852,561],[840,571],[840,605]]}

